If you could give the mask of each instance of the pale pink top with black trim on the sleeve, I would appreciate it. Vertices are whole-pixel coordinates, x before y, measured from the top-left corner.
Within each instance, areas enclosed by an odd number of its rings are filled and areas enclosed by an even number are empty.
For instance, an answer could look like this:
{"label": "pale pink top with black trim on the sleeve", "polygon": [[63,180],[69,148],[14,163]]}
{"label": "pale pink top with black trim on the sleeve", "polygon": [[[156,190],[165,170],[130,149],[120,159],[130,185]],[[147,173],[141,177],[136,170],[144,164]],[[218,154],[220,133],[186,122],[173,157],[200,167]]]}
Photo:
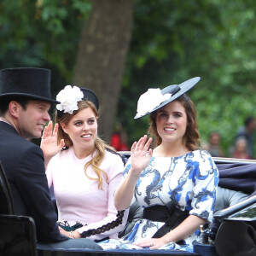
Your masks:
{"label": "pale pink top with black trim on the sleeve", "polygon": [[[106,151],[100,168],[108,174],[108,180],[104,179],[102,189],[98,189],[98,182],[86,177],[84,172],[84,165],[89,160],[91,156],[79,160],[71,147],[55,155],[49,161],[46,171],[49,187],[54,185],[59,221],[67,221],[70,225],[75,224],[76,221],[87,224],[79,228],[79,233],[101,227],[116,218],[117,210],[113,205],[113,194],[124,170],[120,156]],[[91,166],[88,166],[86,173],[89,177],[96,177]],[[89,238],[91,240],[100,240],[106,236],[117,238],[118,232],[125,227],[127,216],[128,210],[125,211],[123,224]]]}

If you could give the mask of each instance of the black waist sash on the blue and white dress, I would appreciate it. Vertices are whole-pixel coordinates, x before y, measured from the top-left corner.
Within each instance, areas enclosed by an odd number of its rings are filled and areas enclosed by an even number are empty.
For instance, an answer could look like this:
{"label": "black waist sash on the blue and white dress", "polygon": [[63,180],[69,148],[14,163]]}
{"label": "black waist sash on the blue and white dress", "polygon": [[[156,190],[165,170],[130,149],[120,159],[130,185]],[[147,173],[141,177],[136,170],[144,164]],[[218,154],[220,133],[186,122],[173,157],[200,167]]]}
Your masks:
{"label": "black waist sash on the blue and white dress", "polygon": [[173,201],[167,203],[166,206],[147,207],[143,210],[143,218],[165,223],[160,230],[154,234],[154,238],[166,235],[166,233],[175,229],[188,216],[189,211],[177,209]]}

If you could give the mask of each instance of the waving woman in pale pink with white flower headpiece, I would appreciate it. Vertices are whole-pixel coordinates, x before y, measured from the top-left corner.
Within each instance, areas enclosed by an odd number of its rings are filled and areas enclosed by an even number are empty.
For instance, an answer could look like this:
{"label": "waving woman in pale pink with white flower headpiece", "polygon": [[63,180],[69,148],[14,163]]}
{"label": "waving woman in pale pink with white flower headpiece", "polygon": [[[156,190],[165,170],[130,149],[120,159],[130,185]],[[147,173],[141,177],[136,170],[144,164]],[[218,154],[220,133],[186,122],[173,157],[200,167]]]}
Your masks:
{"label": "waving woman in pale pink with white flower headpiece", "polygon": [[56,125],[45,127],[41,148],[61,234],[116,239],[128,215],[113,204],[125,160],[97,136],[99,102],[93,91],[67,85],[56,100]]}

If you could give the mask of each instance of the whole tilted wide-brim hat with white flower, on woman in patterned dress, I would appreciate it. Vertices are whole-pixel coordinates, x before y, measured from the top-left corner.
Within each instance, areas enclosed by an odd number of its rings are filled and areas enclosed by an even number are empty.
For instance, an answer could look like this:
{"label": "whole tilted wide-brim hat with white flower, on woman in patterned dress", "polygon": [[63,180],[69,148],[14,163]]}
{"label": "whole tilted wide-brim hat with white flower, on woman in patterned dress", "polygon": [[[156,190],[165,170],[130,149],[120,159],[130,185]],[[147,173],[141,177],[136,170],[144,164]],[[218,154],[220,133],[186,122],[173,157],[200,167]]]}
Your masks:
{"label": "whole tilted wide-brim hat with white flower, on woman in patterned dress", "polygon": [[148,89],[137,102],[137,114],[134,119],[142,118],[148,113],[153,113],[155,110],[166,106],[168,103],[173,102],[179,96],[182,96],[188,90],[193,88],[201,78],[195,77],[184,81],[181,84],[172,84],[166,86],[163,90],[159,88]]}

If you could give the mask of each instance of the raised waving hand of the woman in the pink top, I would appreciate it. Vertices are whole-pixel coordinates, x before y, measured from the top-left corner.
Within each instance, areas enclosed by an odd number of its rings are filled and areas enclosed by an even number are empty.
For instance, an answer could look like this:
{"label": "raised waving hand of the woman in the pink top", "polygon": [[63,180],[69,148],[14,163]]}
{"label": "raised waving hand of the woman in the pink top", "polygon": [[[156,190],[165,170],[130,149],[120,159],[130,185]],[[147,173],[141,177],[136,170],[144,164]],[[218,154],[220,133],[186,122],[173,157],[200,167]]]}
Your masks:
{"label": "raised waving hand of the woman in the pink top", "polygon": [[55,128],[53,129],[53,123],[49,121],[49,124],[44,128],[40,148],[44,152],[45,166],[65,146],[64,140],[61,140],[61,143],[57,144],[58,127],[59,125],[55,124]]}

